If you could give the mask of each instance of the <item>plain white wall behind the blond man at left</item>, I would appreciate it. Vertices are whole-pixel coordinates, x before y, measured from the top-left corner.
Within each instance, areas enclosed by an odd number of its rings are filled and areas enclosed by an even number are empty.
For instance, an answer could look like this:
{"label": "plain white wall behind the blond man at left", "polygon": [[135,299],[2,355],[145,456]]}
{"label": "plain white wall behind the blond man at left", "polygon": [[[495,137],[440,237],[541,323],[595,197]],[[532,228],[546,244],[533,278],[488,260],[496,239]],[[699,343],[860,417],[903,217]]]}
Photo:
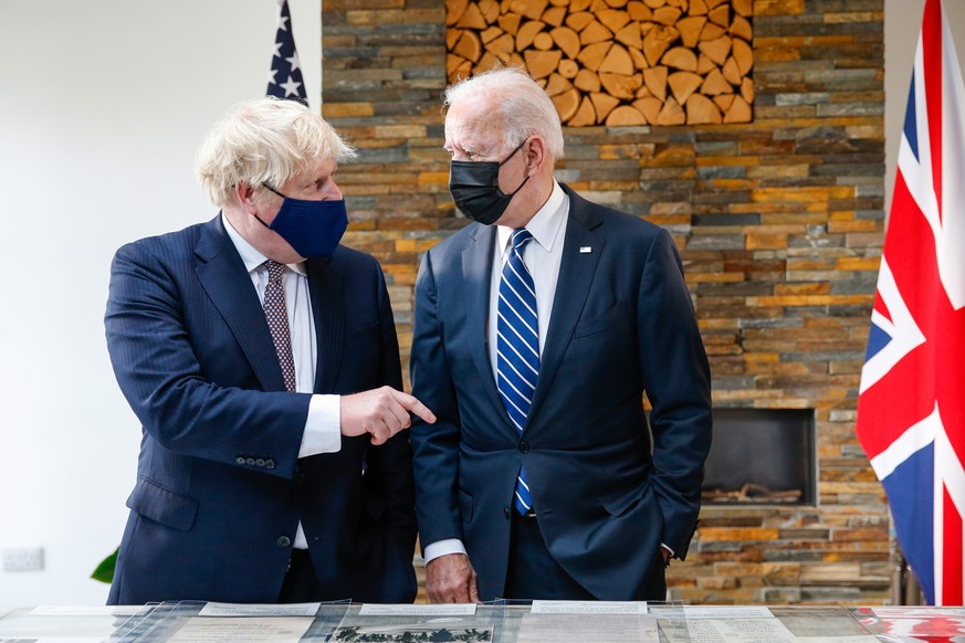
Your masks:
{"label": "plain white wall behind the blond man at left", "polygon": [[[321,4],[290,0],[319,107]],[[103,603],[87,577],[120,539],[139,425],[104,344],[114,251],[207,220],[197,146],[262,96],[274,0],[0,0],[0,613]]]}

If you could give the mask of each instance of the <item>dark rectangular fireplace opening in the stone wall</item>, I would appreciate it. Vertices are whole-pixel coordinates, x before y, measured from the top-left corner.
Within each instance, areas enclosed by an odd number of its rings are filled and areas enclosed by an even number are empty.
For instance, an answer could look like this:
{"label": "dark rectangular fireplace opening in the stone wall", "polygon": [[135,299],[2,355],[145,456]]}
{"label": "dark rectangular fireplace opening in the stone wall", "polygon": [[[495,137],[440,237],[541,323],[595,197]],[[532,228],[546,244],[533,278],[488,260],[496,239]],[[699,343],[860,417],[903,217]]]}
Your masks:
{"label": "dark rectangular fireplace opening in the stone wall", "polygon": [[812,409],[714,409],[702,498],[712,505],[812,505]]}

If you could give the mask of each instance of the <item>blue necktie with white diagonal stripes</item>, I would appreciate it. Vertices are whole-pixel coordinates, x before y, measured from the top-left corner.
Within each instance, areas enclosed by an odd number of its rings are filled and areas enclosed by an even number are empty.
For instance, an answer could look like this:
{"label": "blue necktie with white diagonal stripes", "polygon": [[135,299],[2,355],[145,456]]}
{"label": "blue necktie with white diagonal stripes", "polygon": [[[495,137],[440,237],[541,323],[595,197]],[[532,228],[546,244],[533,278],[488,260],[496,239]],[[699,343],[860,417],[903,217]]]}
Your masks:
{"label": "blue necktie with white diagonal stripes", "polygon": [[[510,256],[503,264],[496,320],[496,387],[510,420],[522,435],[539,375],[539,327],[536,322],[536,288],[523,263],[523,250],[533,240],[525,228],[513,231]],[[526,514],[533,507],[526,472],[516,478],[515,507]]]}

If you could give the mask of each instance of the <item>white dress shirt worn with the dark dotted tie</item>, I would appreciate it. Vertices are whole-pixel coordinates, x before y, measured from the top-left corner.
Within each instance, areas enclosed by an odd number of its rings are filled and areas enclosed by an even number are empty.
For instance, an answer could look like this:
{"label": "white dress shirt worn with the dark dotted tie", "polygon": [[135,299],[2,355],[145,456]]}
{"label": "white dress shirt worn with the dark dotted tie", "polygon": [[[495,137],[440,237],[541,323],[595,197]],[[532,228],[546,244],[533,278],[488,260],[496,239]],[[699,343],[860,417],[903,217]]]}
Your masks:
{"label": "white dress shirt worn with the dark dotted tie", "polygon": [[[241,261],[251,277],[251,283],[258,293],[258,301],[264,302],[264,291],[268,285],[268,267],[262,265],[268,257],[254,249],[228,221],[223,214],[221,221],[228,231],[228,236],[238,249]],[[295,390],[300,393],[311,393],[315,388],[315,366],[317,345],[315,340],[315,322],[312,317],[312,301],[308,297],[308,278],[304,263],[287,264],[285,271],[285,309],[289,316],[289,331],[292,337],[292,357],[295,361]],[[307,457],[318,453],[335,453],[342,449],[342,396],[313,394],[308,402],[308,418],[302,433],[302,446],[298,457]],[[308,542],[302,524],[295,535],[296,548],[306,549]]]}

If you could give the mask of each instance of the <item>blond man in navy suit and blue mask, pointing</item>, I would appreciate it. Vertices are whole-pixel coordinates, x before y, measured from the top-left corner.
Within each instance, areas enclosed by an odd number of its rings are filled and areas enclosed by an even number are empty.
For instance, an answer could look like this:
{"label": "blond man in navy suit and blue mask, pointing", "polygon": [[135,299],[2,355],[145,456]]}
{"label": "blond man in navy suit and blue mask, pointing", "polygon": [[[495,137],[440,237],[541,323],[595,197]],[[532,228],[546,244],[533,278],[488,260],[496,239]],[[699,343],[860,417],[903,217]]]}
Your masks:
{"label": "blond man in navy suit and blue mask, pointing", "polygon": [[122,247],[105,325],[143,424],[109,603],[411,602],[408,426],[385,277],[339,245],[354,151],[298,103],[219,122],[221,212]]}

